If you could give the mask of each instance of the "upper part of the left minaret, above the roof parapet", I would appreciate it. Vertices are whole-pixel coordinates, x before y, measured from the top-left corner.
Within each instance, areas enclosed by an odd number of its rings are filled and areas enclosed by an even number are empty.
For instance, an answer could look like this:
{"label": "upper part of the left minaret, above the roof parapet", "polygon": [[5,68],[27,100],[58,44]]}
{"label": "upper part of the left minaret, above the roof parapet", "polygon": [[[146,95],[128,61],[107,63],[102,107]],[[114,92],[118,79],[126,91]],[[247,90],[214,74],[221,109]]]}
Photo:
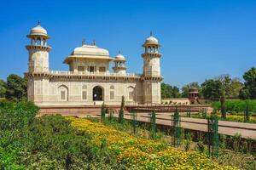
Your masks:
{"label": "upper part of the left minaret, above the roof parapet", "polygon": [[26,37],[31,39],[31,44],[26,46],[28,50],[28,72],[49,71],[49,51],[47,45],[49,36],[47,31],[40,26],[33,27]]}

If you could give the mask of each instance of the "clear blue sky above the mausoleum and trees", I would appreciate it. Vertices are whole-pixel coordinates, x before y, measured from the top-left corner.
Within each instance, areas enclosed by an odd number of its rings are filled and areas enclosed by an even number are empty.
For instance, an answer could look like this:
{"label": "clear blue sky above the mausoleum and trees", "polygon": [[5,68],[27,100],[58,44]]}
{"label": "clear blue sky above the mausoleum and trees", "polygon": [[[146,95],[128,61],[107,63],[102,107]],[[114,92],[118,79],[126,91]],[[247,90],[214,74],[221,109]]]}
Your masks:
{"label": "clear blue sky above the mausoleum and trees", "polygon": [[0,78],[26,72],[26,35],[38,20],[51,37],[51,70],[67,70],[63,59],[85,38],[113,57],[120,50],[128,71],[141,73],[150,31],[162,45],[164,82],[178,87],[256,66],[256,1],[9,0],[0,6]]}

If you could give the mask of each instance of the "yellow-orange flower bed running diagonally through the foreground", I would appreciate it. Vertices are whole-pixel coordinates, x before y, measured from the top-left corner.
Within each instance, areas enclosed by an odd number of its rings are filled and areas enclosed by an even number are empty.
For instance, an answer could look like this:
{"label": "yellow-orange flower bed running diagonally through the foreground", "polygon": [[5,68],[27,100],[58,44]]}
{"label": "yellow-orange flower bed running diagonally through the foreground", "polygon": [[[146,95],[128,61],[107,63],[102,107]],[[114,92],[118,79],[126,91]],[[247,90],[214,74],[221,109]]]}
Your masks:
{"label": "yellow-orange flower bed running diagonally through the foreground", "polygon": [[91,144],[101,147],[104,141],[117,161],[129,169],[238,169],[220,166],[199,152],[177,150],[161,142],[136,138],[99,122],[68,119],[73,127],[91,134]]}

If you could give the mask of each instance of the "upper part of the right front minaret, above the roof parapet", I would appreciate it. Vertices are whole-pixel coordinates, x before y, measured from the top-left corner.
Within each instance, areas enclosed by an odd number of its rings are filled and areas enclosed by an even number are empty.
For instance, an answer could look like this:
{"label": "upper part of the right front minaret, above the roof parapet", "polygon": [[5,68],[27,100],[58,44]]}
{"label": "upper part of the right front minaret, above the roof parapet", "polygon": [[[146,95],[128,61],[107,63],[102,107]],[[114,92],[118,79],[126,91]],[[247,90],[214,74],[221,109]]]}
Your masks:
{"label": "upper part of the right front minaret, above the roof parapet", "polygon": [[158,48],[160,44],[150,32],[150,37],[143,44],[145,48],[143,57],[143,76],[144,77],[160,77],[160,57]]}

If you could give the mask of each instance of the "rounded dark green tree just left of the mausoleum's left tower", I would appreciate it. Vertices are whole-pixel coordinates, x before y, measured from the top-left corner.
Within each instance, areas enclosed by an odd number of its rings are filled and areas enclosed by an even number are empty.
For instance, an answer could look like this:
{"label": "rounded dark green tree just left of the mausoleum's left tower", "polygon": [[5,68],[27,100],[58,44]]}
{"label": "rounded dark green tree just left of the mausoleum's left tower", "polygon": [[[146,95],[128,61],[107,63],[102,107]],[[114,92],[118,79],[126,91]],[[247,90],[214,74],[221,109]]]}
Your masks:
{"label": "rounded dark green tree just left of the mausoleum's left tower", "polygon": [[26,99],[26,79],[19,77],[15,74],[10,74],[7,77],[6,85],[6,99],[10,100],[22,100]]}

